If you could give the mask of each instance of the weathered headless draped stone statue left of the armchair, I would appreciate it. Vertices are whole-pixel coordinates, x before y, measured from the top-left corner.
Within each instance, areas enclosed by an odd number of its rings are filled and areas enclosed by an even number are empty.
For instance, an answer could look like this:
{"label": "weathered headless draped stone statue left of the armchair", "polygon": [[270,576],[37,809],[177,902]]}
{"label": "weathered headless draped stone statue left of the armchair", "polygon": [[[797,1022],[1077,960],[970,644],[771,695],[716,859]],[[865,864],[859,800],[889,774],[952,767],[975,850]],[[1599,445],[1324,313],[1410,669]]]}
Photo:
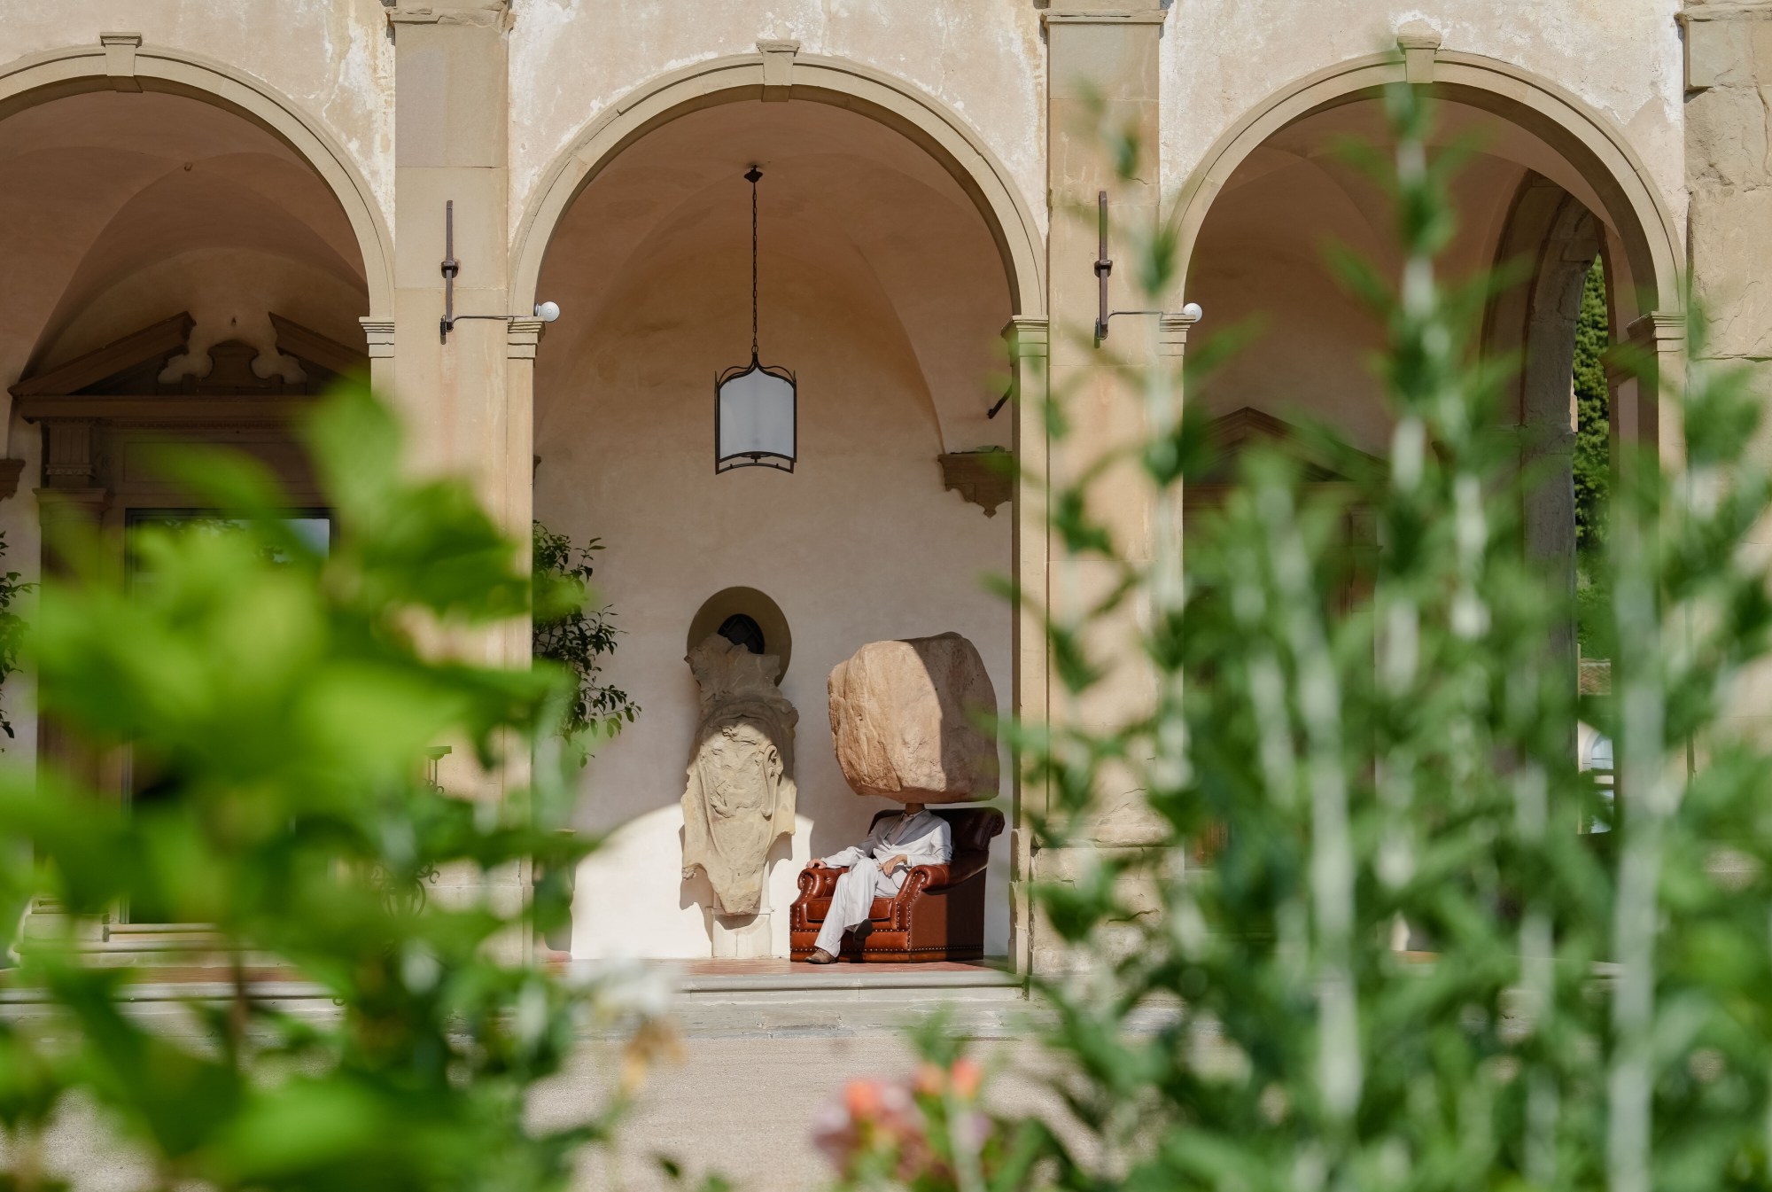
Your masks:
{"label": "weathered headless draped stone statue left of the armchair", "polygon": [[707,873],[716,914],[755,915],[769,846],[794,832],[799,713],[774,683],[774,655],[711,633],[684,662],[702,686],[702,720],[682,793],[682,876]]}

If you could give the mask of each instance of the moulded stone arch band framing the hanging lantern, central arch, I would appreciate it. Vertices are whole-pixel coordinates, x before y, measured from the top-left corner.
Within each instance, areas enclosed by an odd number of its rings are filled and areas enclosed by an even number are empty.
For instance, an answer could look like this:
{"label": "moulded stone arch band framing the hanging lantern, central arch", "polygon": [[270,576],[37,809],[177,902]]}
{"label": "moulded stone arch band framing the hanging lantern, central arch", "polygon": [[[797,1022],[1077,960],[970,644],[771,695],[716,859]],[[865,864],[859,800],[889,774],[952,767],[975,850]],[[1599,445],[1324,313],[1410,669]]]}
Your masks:
{"label": "moulded stone arch band framing the hanging lantern, central arch", "polygon": [[[535,303],[542,261],[560,218],[622,149],[689,112],[774,98],[766,94],[766,57],[789,55],[732,55],[663,74],[585,126],[546,170],[517,224],[510,252],[510,309],[526,314]],[[952,108],[882,71],[842,59],[796,53],[790,80],[794,99],[828,103],[879,121],[941,163],[978,208],[996,241],[1008,278],[1010,310],[1022,318],[1045,312],[1045,245],[1033,211],[1010,181],[1008,169]],[[778,90],[778,80],[769,78],[767,89]]]}

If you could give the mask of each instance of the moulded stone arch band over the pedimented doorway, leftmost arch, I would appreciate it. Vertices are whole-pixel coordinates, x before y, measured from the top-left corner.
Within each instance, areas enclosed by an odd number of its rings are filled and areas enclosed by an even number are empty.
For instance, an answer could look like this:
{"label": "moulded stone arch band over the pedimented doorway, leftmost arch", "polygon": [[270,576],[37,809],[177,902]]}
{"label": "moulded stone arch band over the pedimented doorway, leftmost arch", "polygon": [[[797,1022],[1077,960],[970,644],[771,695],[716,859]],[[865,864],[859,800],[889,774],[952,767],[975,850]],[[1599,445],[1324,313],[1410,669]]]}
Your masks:
{"label": "moulded stone arch band over the pedimented doorway, leftmost arch", "polygon": [[337,138],[262,80],[202,55],[106,34],[103,44],[48,50],[0,66],[0,121],[51,99],[112,89],[198,99],[284,140],[321,176],[351,222],[363,255],[369,318],[393,318],[393,239],[369,181]]}

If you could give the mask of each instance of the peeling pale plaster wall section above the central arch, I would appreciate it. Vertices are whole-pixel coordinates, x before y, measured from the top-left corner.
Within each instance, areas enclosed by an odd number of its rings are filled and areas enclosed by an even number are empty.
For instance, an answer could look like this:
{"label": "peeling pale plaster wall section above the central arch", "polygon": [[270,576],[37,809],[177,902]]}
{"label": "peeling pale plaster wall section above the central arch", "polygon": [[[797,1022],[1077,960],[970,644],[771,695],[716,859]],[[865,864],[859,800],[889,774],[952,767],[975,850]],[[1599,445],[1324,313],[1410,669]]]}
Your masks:
{"label": "peeling pale plaster wall section above the central arch", "polygon": [[796,39],[801,53],[886,71],[952,106],[1003,160],[1044,225],[1045,57],[1030,0],[514,0],[510,222],[572,137],[641,83]]}

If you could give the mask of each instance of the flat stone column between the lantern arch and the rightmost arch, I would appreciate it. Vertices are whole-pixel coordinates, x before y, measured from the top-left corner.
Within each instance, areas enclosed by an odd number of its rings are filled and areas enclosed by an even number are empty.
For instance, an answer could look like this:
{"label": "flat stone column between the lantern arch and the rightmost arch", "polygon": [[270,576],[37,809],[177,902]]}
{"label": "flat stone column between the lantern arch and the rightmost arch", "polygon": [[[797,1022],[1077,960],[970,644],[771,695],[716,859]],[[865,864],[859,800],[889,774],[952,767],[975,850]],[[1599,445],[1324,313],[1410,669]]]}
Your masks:
{"label": "flat stone column between the lantern arch and the rightmost arch", "polygon": [[[1070,435],[1051,445],[1047,470],[1061,486],[1104,452],[1145,433],[1141,378],[1157,357],[1159,321],[1148,314],[1113,319],[1108,339],[1095,344],[1097,319],[1097,195],[1108,192],[1109,309],[1155,305],[1136,286],[1138,254],[1161,218],[1157,179],[1159,144],[1159,35],[1164,11],[1150,5],[1129,11],[1120,0],[1054,0],[1045,12],[1047,32],[1047,312],[1051,318],[1053,399],[1069,412]],[[1138,169],[1122,181],[1115,170],[1115,137],[1132,137],[1141,151]],[[1026,451],[1026,445],[1022,447]],[[1022,459],[1028,465],[1028,459]],[[1102,520],[1125,557],[1152,557],[1152,493],[1134,465],[1116,467],[1093,484],[1093,514]],[[1106,566],[1063,555],[1047,545],[1047,592],[1058,617],[1074,616],[1111,584]],[[1086,701],[1072,701],[1049,685],[1054,722],[1106,725],[1145,704],[1150,667],[1132,646],[1136,626],[1097,626],[1092,647],[1109,662],[1109,678]],[[1143,848],[1159,839],[1139,791],[1113,777],[1104,780],[1093,848]],[[1037,880],[1065,880],[1090,864],[1093,848],[1040,850],[1030,857]],[[1056,942],[1042,938],[1038,924],[1030,947],[1037,970],[1065,963]]]}

